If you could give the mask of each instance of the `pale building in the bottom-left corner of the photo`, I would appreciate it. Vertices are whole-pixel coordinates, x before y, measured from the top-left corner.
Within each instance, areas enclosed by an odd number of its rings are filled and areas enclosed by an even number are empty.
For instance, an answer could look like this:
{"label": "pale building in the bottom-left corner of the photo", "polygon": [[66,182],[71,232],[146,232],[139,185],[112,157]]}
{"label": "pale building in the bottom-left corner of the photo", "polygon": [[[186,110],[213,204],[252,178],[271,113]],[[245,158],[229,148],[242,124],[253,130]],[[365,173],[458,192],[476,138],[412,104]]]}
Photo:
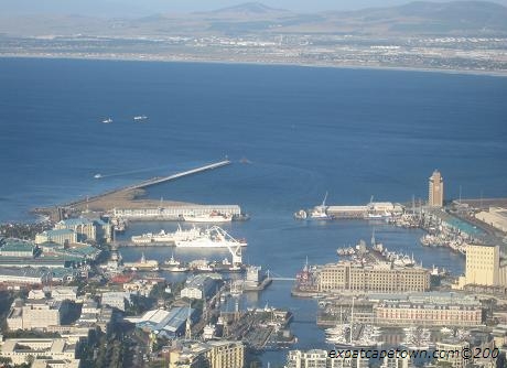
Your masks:
{"label": "pale building in the bottom-left corner of the photo", "polygon": [[[63,338],[9,338],[1,345],[0,356],[10,358],[14,365],[25,364],[29,357],[34,359],[35,367],[47,367],[37,360],[65,360],[69,367],[78,367],[76,345],[68,344]],[[34,366],[32,366],[34,367]],[[62,365],[51,367],[63,367]]]}

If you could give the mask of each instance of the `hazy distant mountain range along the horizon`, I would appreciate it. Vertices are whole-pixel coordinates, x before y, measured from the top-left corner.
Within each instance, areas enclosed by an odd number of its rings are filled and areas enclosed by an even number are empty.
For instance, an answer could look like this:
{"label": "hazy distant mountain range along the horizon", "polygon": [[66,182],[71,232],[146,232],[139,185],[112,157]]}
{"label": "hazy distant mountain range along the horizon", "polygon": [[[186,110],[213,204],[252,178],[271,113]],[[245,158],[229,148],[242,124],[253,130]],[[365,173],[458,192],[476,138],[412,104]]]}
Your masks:
{"label": "hazy distant mountain range along the horizon", "polygon": [[428,2],[300,14],[259,2],[191,14],[143,18],[37,15],[2,17],[0,33],[11,35],[242,35],[332,33],[362,35],[505,35],[507,8],[488,1]]}

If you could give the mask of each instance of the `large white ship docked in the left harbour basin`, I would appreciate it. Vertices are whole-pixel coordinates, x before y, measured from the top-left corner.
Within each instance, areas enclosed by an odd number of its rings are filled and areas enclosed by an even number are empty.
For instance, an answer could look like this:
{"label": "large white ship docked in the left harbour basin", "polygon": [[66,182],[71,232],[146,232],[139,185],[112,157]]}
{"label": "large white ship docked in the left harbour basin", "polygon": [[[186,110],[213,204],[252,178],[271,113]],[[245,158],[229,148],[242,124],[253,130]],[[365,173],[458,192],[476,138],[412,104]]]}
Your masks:
{"label": "large white ship docked in the left harbour basin", "polygon": [[213,226],[196,238],[179,239],[174,241],[180,248],[236,248],[246,247],[245,239],[235,239],[226,230],[218,226]]}

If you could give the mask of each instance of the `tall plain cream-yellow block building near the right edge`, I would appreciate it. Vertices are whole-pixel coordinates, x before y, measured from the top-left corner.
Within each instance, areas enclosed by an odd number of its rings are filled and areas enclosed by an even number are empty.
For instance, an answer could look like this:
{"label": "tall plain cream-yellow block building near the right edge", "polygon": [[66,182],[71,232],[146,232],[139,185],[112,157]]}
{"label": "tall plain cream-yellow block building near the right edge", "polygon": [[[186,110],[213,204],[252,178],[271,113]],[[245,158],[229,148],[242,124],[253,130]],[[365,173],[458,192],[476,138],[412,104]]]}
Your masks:
{"label": "tall plain cream-yellow block building near the right edge", "polygon": [[496,286],[499,284],[500,251],[498,246],[466,247],[465,284]]}

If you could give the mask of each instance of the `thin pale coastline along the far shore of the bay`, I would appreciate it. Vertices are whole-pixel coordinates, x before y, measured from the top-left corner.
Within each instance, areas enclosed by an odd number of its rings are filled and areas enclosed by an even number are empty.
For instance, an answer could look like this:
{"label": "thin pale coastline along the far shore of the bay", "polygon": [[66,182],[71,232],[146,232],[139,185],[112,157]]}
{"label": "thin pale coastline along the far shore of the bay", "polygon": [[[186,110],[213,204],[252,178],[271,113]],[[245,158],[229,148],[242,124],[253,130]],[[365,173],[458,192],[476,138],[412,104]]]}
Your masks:
{"label": "thin pale coastline along the far shore of the bay", "polygon": [[293,67],[315,67],[333,69],[366,69],[366,71],[399,71],[399,72],[420,72],[420,73],[441,73],[455,75],[474,75],[488,77],[507,77],[506,71],[484,71],[484,69],[444,69],[430,67],[409,67],[409,66],[382,66],[382,65],[358,65],[358,64],[311,64],[304,62],[266,62],[266,61],[231,61],[231,59],[201,59],[192,57],[163,56],[145,58],[139,56],[79,56],[79,55],[39,55],[39,54],[0,54],[0,58],[41,58],[41,59],[78,59],[78,61],[110,61],[110,62],[151,62],[151,63],[187,63],[187,64],[231,64],[231,65],[261,65],[261,66],[293,66]]}

